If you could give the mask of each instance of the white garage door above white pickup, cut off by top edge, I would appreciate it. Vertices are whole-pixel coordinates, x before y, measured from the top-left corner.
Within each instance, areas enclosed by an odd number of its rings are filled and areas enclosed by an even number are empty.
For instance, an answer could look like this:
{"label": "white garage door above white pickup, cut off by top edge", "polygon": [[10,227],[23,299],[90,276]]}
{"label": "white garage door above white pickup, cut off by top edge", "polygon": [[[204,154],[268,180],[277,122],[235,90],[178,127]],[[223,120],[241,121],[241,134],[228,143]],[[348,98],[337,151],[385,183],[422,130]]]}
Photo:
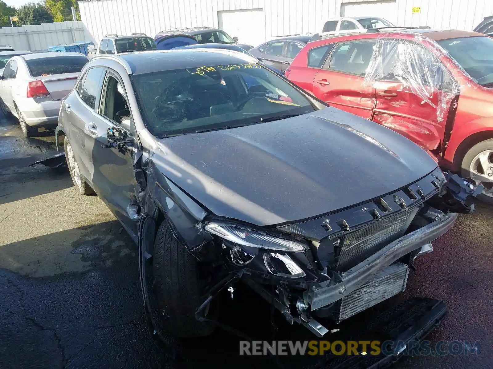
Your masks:
{"label": "white garage door above white pickup, cut off by top edge", "polygon": [[[341,4],[341,17],[371,16],[397,23],[397,4],[395,0],[358,1]],[[396,25],[398,26],[398,25]]]}

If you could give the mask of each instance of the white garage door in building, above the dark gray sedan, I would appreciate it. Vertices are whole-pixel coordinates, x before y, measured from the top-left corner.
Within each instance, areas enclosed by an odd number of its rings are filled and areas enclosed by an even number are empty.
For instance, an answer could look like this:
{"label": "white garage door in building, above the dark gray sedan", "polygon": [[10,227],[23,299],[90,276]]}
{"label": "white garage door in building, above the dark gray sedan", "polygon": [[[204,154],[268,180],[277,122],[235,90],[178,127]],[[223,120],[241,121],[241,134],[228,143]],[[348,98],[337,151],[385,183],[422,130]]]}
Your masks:
{"label": "white garage door in building, above the dark gray sedan", "polygon": [[218,11],[219,28],[240,43],[255,46],[265,41],[265,16],[263,9]]}

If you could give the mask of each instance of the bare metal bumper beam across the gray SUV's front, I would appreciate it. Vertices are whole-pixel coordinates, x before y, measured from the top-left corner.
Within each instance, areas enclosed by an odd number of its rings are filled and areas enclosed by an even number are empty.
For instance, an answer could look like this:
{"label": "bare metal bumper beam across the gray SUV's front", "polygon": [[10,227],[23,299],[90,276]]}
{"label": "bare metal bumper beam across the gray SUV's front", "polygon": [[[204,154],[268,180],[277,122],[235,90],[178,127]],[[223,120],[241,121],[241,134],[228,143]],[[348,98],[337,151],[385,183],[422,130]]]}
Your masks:
{"label": "bare metal bumper beam across the gray SUV's front", "polygon": [[457,216],[455,213],[438,215],[430,224],[391,242],[347,272],[339,274],[338,283],[329,280],[311,287],[306,302],[312,310],[316,310],[342,299],[404,255],[442,236],[454,225]]}

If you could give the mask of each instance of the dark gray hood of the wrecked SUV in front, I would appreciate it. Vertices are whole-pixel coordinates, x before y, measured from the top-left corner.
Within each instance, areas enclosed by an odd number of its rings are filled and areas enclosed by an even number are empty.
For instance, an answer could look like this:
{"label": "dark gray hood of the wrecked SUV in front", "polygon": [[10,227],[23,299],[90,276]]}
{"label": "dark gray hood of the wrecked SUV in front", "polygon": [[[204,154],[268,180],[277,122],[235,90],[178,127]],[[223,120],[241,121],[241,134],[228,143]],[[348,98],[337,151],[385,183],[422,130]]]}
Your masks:
{"label": "dark gray hood of the wrecked SUV in front", "polygon": [[377,198],[437,166],[407,138],[331,107],[159,142],[165,176],[213,214],[259,226]]}

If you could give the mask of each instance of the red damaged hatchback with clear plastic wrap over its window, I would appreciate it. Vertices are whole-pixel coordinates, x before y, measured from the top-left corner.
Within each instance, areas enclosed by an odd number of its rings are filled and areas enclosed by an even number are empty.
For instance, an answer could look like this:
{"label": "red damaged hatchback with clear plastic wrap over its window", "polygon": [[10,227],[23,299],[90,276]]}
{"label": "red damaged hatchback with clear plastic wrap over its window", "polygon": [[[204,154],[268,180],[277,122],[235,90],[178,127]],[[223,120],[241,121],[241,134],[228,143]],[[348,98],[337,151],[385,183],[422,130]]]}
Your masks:
{"label": "red damaged hatchback with clear plastic wrap over its window", "polygon": [[493,204],[493,38],[371,32],[315,35],[285,76],[333,107],[397,131],[442,167],[481,181],[478,198]]}

